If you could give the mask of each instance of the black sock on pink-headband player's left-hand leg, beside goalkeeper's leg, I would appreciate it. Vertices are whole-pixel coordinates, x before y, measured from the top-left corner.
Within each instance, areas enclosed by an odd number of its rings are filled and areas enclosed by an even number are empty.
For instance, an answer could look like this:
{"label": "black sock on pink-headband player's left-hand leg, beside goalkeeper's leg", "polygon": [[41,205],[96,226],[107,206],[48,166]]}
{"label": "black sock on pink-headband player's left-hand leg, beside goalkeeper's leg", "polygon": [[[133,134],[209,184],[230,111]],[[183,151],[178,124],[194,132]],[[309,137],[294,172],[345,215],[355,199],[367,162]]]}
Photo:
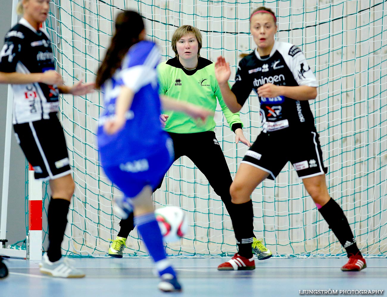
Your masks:
{"label": "black sock on pink-headband player's left-hand leg, beside goalkeeper's leg", "polygon": [[253,256],[251,244],[253,242],[253,202],[252,200],[234,204],[233,207],[233,227],[235,232],[236,244],[238,245],[238,254],[250,259]]}

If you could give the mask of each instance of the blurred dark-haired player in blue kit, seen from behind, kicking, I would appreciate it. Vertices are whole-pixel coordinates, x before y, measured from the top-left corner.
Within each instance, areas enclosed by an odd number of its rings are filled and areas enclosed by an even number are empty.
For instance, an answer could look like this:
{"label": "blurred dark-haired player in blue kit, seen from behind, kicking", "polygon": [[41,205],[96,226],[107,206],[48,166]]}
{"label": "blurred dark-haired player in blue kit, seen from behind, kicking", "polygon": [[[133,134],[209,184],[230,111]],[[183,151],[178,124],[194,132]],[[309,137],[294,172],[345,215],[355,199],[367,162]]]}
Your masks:
{"label": "blurred dark-haired player in blue kit, seen from behind, kicking", "polygon": [[174,157],[172,141],[160,125],[161,103],[202,120],[211,112],[165,97],[160,102],[159,48],[146,41],[141,15],[122,12],[115,27],[96,78],[105,107],[98,127],[101,164],[106,176],[125,194],[115,199],[115,205],[126,215],[133,209],[135,224],[161,278],[159,289],[180,291],[175,270],[166,259],[151,198]]}

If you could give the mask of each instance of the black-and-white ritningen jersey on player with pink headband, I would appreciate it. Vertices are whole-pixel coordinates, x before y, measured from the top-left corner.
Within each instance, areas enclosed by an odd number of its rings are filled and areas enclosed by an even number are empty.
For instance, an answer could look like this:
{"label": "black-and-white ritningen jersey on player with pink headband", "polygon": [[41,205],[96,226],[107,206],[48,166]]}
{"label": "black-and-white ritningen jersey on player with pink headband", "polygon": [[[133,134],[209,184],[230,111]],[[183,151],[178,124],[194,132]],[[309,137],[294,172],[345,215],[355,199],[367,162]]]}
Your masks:
{"label": "black-and-white ritningen jersey on player with pink headband", "polygon": [[[318,87],[301,49],[287,42],[274,42],[268,57],[260,57],[255,51],[243,58],[238,66],[235,84],[231,88],[240,105],[243,106],[251,91],[265,83],[279,86]],[[314,127],[308,101],[299,101],[284,96],[259,98],[262,131],[272,132],[288,127]]]}

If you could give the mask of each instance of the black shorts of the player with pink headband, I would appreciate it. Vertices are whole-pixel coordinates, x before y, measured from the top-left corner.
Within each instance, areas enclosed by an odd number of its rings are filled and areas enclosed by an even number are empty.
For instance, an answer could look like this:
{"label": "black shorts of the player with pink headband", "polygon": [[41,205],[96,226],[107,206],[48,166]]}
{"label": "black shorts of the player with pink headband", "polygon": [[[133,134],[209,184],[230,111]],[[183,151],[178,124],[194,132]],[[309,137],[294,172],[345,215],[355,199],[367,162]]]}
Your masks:
{"label": "black shorts of the player with pink headband", "polygon": [[242,163],[266,171],[270,174],[268,178],[274,180],[288,161],[300,178],[314,177],[328,171],[323,164],[316,131],[262,132]]}

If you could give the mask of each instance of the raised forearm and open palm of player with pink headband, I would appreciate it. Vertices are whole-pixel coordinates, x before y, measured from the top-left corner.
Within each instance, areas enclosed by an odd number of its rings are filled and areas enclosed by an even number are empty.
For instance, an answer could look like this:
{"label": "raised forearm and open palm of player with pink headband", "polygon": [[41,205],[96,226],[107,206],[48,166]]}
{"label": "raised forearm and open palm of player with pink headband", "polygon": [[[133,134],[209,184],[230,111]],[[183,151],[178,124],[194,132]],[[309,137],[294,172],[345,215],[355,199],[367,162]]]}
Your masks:
{"label": "raised forearm and open palm of player with pink headband", "polygon": [[236,97],[234,93],[231,92],[228,85],[230,75],[231,70],[229,63],[226,63],[226,60],[222,56],[218,57],[215,63],[215,77],[222,93],[224,103],[226,103],[231,112],[235,113],[241,110],[242,106],[236,101]]}

